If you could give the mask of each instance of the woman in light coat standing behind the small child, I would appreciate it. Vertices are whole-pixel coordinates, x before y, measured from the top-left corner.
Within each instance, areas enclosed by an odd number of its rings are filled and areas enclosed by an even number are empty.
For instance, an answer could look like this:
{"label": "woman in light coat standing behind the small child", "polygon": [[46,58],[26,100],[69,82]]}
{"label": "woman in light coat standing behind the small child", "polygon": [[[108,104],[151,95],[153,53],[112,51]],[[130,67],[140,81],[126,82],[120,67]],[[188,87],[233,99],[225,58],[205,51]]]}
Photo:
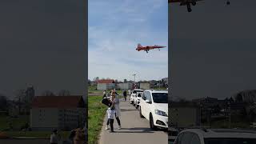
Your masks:
{"label": "woman in light coat standing behind the small child", "polygon": [[[112,105],[114,105],[114,110],[115,110],[115,118],[117,119],[118,121],[118,130],[121,129],[121,122],[120,122],[120,119],[119,117],[121,116],[121,111],[120,111],[120,107],[119,107],[119,98],[116,97],[116,92],[115,90],[112,90],[111,91],[111,98],[110,98],[110,103],[112,103]],[[107,121],[106,122],[106,130],[108,130],[108,126],[109,126],[110,122]]]}

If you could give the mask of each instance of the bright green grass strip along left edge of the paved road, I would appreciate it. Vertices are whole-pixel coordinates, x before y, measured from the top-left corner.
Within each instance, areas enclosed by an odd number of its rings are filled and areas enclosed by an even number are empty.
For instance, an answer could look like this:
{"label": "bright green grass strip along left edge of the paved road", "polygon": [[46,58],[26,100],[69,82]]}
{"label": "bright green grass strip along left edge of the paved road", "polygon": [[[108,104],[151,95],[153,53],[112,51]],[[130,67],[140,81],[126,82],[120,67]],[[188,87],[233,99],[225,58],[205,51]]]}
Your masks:
{"label": "bright green grass strip along left edge of the paved road", "polygon": [[88,143],[98,144],[98,137],[102,130],[106,106],[101,103],[102,96],[88,97]]}

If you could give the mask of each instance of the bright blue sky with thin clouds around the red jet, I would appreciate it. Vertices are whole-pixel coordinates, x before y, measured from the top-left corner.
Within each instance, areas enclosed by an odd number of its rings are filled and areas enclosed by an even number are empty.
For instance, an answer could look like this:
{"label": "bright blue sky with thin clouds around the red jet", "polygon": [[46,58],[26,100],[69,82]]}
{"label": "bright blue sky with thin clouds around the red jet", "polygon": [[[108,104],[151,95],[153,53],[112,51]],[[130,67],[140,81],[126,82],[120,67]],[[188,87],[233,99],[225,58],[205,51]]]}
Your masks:
{"label": "bright blue sky with thin clouds around the red jet", "polygon": [[168,46],[166,0],[90,0],[88,76],[90,79],[150,80],[168,77],[168,47],[136,51],[138,43]]}

